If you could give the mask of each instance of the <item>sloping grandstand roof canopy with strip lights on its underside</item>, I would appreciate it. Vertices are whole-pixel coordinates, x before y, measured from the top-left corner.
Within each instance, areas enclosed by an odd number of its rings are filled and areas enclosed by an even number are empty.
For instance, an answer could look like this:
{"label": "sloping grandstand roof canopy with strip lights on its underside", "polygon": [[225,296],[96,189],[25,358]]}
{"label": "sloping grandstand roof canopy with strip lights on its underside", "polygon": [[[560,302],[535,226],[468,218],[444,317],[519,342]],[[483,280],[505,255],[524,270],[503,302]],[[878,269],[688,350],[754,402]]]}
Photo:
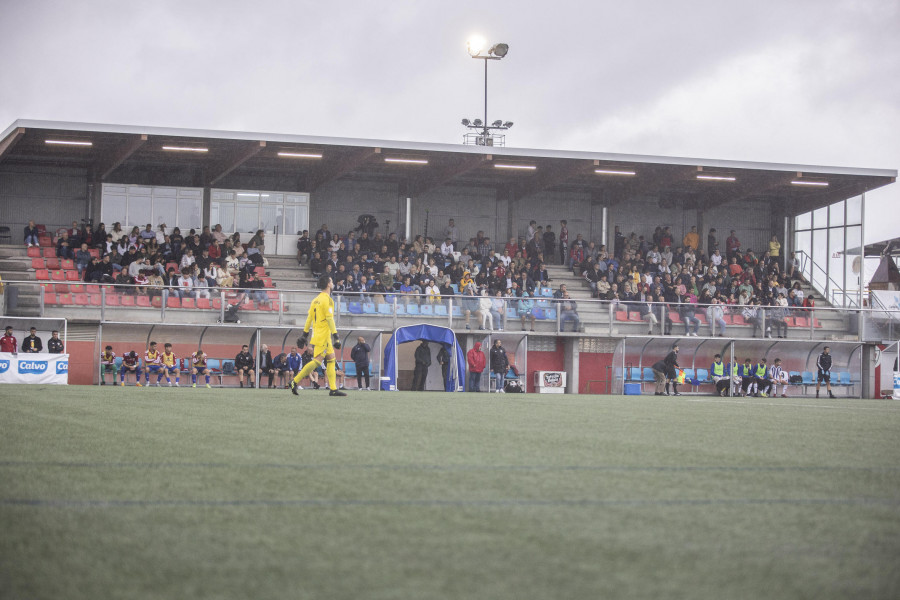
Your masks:
{"label": "sloping grandstand roof canopy with strip lights on its underside", "polygon": [[169,185],[168,170],[187,170],[197,187],[222,187],[240,174],[296,182],[282,191],[315,192],[344,179],[393,182],[410,196],[467,186],[515,197],[588,193],[609,204],[656,195],[698,209],[769,200],[787,215],[897,178],[889,169],[34,120],[17,120],[0,134],[0,166],[14,165],[81,168],[90,180],[111,183],[134,183],[129,175],[138,170],[151,174],[140,182],[150,185]]}

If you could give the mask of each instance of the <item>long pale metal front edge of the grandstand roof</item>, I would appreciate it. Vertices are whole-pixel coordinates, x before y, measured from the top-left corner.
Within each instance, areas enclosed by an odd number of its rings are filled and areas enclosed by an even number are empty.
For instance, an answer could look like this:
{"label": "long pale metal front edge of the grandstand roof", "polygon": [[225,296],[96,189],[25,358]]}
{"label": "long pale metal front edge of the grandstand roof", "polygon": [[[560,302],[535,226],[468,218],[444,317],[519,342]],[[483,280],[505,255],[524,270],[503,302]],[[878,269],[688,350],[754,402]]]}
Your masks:
{"label": "long pale metal front edge of the grandstand roof", "polygon": [[616,154],[611,152],[590,152],[583,150],[551,150],[537,148],[513,148],[501,146],[465,146],[462,144],[446,144],[438,142],[413,142],[398,140],[377,140],[367,138],[343,138],[311,136],[298,134],[278,134],[250,131],[226,131],[210,129],[187,129],[178,127],[159,127],[143,125],[117,125],[108,123],[80,123],[68,121],[47,121],[35,119],[17,119],[0,136],[5,139],[18,127],[26,129],[58,129],[71,131],[96,131],[99,133],[147,134],[173,137],[200,137],[222,140],[261,140],[291,144],[321,144],[359,147],[378,147],[393,150],[413,150],[423,152],[451,152],[456,154],[491,154],[509,158],[556,158],[569,160],[599,160],[623,163],[650,163],[660,165],[703,166],[721,169],[765,170],[765,171],[799,171],[803,173],[857,175],[865,177],[897,177],[896,169],[878,169],[864,167],[842,167],[826,165],[806,165],[793,163],[773,163],[739,161],[729,159],[694,158],[679,156],[654,156],[643,154]]}

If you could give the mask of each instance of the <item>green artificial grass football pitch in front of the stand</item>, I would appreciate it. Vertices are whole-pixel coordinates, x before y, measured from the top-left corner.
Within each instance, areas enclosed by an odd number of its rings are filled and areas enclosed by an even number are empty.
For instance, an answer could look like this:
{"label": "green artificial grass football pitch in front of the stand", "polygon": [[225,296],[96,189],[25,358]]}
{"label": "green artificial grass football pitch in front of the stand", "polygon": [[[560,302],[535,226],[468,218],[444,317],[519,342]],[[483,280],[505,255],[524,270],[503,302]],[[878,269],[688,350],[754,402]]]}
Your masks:
{"label": "green artificial grass football pitch in front of the stand", "polygon": [[889,401],[0,387],[0,598],[898,598]]}

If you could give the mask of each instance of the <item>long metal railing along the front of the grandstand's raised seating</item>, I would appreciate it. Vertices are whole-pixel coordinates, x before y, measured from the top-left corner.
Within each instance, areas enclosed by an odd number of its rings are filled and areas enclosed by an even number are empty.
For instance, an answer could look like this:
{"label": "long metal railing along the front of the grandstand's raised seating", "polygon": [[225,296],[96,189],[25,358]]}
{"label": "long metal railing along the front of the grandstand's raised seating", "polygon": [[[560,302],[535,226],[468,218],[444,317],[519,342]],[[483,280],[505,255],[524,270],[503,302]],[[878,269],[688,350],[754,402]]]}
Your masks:
{"label": "long metal railing along the front of the grandstand's raised seating", "polygon": [[[122,320],[123,311],[145,310],[160,322],[227,322],[226,310],[240,303],[238,318],[246,323],[291,324],[305,321],[315,289],[178,288],[149,286],[5,281],[6,298],[16,289],[18,307],[7,314],[69,316]],[[51,284],[53,287],[51,288]],[[59,288],[59,289],[58,289]],[[60,293],[60,290],[65,290]],[[377,293],[334,292],[338,327],[368,324],[396,328],[418,320],[457,330],[504,330],[591,336],[632,337],[693,335],[703,337],[763,337],[779,334],[794,339],[882,340],[900,331],[900,311],[884,308],[801,308],[742,305],[679,305],[666,303],[563,300],[538,295],[529,298],[453,295],[434,297],[396,290]],[[5,304],[10,305],[10,302]],[[686,310],[686,306],[690,310]],[[721,313],[720,313],[721,311]]]}

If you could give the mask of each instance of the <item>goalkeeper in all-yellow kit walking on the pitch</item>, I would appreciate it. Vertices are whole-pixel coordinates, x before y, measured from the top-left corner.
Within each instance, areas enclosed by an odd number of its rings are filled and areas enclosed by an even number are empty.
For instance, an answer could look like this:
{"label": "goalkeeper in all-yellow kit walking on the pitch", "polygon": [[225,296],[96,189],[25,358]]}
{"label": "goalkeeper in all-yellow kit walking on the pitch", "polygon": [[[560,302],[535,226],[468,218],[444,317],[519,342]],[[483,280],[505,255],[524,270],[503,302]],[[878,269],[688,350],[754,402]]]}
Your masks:
{"label": "goalkeeper in all-yellow kit walking on the pitch", "polygon": [[[325,362],[325,377],[328,379],[329,396],[346,396],[347,394],[337,389],[337,377],[335,375],[334,351],[341,349],[341,342],[337,335],[337,326],[334,324],[334,300],[331,299],[331,290],[334,282],[328,275],[319,278],[317,287],[322,290],[309,305],[309,314],[306,316],[306,324],[303,326],[303,335],[297,340],[297,346],[303,348],[307,341],[313,347],[313,358],[306,363],[300,372],[291,380],[291,392],[297,394],[297,386],[313,370],[322,366]],[[310,333],[312,339],[309,340]]]}

